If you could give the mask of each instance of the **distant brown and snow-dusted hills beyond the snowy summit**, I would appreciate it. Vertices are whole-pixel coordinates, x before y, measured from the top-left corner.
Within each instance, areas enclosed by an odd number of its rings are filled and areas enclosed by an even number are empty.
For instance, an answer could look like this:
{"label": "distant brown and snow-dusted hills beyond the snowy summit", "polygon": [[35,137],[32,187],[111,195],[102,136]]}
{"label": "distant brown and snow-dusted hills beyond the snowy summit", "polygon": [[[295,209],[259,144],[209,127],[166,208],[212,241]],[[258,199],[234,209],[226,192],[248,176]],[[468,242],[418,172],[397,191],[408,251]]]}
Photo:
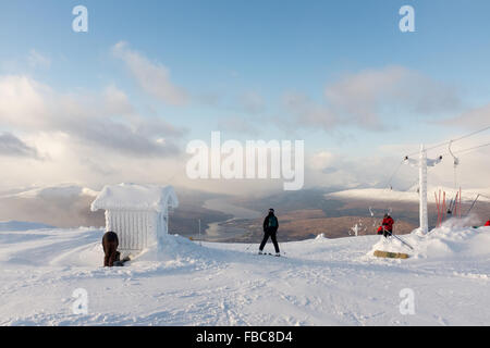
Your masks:
{"label": "distant brown and snow-dusted hills beyond the snowy summit", "polygon": [[[466,212],[476,191],[463,192],[463,211]],[[64,228],[103,226],[103,211],[89,210],[96,194],[90,188],[66,184],[0,195],[0,221],[32,221]],[[170,214],[170,228],[183,236],[196,238],[200,220],[201,237],[212,241],[259,241],[262,237],[264,214],[270,207],[275,209],[280,220],[279,238],[282,241],[308,239],[319,234],[328,238],[346,237],[356,224],[360,227],[359,235],[373,234],[388,210],[392,211],[396,221],[396,234],[409,233],[419,223],[418,201],[415,199],[418,196],[412,191],[390,194],[389,190],[356,189],[326,192],[306,189],[253,198],[180,188],[177,196],[180,207]],[[369,208],[375,216],[371,216]],[[479,219],[475,223],[487,221],[489,211],[490,202],[481,197],[471,211]],[[434,226],[436,221],[437,208],[433,197],[429,196],[430,225]],[[217,224],[221,232],[219,237],[204,235],[206,228],[211,225],[216,227]]]}

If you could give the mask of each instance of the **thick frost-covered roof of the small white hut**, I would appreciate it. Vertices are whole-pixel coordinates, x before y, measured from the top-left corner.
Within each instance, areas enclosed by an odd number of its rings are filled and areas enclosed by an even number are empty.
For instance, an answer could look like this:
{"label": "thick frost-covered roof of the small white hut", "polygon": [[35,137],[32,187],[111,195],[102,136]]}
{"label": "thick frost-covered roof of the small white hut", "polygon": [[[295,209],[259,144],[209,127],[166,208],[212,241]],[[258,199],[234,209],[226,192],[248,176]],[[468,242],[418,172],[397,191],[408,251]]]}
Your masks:
{"label": "thick frost-covered roof of the small white hut", "polygon": [[179,207],[172,186],[119,184],[107,185],[91,203],[90,210],[154,210]]}

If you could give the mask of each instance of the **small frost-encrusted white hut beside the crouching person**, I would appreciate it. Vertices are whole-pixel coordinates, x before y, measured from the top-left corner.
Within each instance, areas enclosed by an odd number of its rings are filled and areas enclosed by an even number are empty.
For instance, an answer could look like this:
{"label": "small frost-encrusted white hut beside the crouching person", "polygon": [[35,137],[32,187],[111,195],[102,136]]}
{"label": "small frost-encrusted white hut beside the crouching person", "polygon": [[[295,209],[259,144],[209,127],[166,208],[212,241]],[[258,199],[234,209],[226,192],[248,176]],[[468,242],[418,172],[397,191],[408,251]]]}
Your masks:
{"label": "small frost-encrusted white hut beside the crouching person", "polygon": [[106,210],[106,231],[118,234],[118,249],[126,256],[162,243],[169,209],[177,206],[172,186],[120,184],[105,186],[90,210]]}

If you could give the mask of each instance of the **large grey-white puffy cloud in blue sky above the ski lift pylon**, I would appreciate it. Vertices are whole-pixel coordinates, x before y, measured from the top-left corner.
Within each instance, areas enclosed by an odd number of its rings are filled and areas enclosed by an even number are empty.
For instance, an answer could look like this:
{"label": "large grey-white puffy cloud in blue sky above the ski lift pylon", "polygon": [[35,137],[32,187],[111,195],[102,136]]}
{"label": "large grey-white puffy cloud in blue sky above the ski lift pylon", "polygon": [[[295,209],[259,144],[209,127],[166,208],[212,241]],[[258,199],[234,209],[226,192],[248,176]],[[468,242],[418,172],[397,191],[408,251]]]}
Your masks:
{"label": "large grey-white puffy cloud in blue sky above the ski lift pylon", "polygon": [[393,115],[430,117],[460,108],[456,90],[403,66],[345,75],[328,85],[323,96],[322,103],[298,92],[284,97],[295,127],[382,129]]}

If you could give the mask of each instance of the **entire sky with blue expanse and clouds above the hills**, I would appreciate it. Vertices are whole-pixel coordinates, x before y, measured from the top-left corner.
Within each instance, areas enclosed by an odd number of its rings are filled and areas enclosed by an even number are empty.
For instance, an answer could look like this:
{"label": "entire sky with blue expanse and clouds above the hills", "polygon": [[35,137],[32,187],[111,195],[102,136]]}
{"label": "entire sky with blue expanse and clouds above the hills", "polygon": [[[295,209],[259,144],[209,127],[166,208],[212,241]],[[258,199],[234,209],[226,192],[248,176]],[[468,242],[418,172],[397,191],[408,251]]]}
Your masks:
{"label": "entire sky with blue expanse and clouds above the hills", "polygon": [[[304,189],[417,179],[403,157],[490,124],[488,1],[0,1],[0,190],[191,179],[189,141],[303,140]],[[415,12],[404,33],[400,9]],[[74,8],[87,10],[75,32]],[[482,132],[454,144],[490,142]],[[432,185],[488,188],[489,147],[449,147]]]}

